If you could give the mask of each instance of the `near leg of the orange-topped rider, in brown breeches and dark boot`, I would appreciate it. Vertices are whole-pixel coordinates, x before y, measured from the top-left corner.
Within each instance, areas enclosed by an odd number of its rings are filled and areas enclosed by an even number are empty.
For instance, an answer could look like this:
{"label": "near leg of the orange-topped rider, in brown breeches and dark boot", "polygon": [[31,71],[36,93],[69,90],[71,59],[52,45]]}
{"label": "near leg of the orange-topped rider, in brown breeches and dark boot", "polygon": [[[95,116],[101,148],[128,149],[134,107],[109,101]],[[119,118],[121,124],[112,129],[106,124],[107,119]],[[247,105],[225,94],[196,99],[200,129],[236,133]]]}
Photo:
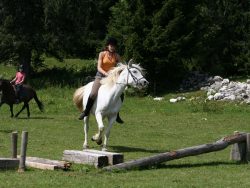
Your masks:
{"label": "near leg of the orange-topped rider, in brown breeches and dark boot", "polygon": [[94,84],[92,86],[92,90],[91,90],[91,93],[89,95],[89,98],[88,98],[88,101],[87,101],[87,105],[86,105],[86,108],[85,110],[80,114],[79,116],[79,120],[82,120],[84,119],[85,116],[88,116],[89,115],[89,112],[95,102],[95,99],[96,99],[96,96],[97,96],[97,93],[98,93],[98,90],[101,86],[101,83],[100,83],[100,78],[96,78],[95,81],[94,81]]}

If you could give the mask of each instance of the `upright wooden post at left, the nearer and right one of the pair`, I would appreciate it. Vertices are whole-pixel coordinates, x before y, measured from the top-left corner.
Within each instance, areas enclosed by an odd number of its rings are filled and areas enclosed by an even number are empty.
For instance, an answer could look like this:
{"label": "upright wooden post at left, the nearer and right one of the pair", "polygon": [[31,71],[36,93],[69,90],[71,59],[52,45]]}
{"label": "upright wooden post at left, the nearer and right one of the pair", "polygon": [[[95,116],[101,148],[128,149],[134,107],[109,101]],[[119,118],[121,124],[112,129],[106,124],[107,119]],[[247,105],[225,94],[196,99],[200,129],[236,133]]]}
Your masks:
{"label": "upright wooden post at left, the nearer and right one of the pair", "polygon": [[28,132],[22,132],[22,143],[21,143],[21,155],[20,155],[20,163],[19,163],[19,172],[24,172],[25,170],[25,160],[26,160],[26,150],[28,144]]}

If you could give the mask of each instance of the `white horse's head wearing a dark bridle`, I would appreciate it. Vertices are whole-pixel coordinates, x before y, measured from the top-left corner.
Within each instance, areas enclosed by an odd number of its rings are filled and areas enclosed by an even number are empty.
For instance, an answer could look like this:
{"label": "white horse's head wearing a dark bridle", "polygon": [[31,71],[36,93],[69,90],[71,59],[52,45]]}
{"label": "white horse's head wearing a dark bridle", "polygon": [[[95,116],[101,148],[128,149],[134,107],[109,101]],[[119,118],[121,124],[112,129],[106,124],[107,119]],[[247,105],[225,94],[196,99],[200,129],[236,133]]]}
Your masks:
{"label": "white horse's head wearing a dark bridle", "polygon": [[132,85],[133,87],[137,87],[139,89],[148,86],[149,82],[144,77],[144,69],[138,64],[133,64],[133,60],[129,61],[127,69],[125,70],[128,85]]}

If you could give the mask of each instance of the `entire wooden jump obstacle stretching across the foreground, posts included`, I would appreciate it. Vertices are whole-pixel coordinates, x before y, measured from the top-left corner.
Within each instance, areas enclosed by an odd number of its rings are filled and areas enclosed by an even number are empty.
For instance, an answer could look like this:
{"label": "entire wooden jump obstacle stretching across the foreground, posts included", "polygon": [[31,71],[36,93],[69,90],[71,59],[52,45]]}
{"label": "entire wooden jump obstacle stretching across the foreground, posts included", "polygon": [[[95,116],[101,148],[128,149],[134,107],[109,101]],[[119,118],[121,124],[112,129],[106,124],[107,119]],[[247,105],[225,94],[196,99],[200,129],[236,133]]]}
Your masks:
{"label": "entire wooden jump obstacle stretching across the foreground, posts included", "polygon": [[25,170],[25,166],[40,169],[68,169],[73,163],[94,165],[106,171],[129,170],[146,166],[153,166],[163,162],[196,156],[210,152],[216,152],[233,145],[230,159],[241,162],[250,161],[250,133],[234,132],[234,135],[226,136],[214,143],[203,144],[170,152],[160,153],[150,157],[123,162],[123,154],[104,152],[97,150],[64,150],[63,160],[56,161],[38,157],[26,157],[28,132],[22,133],[21,155],[17,158],[17,132],[12,133],[12,158],[0,158],[0,169],[17,168],[19,172]]}

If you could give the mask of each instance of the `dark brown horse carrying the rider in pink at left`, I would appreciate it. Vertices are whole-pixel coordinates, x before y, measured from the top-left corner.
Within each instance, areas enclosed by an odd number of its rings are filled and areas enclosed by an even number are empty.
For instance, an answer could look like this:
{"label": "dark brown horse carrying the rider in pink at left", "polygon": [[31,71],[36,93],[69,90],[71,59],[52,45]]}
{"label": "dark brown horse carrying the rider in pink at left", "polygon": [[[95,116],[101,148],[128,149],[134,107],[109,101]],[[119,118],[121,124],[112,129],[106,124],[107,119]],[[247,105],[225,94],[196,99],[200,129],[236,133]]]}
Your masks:
{"label": "dark brown horse carrying the rider in pink at left", "polygon": [[[16,104],[16,95],[15,89],[9,80],[0,79],[0,92],[2,92],[0,98],[0,107],[4,103],[8,104],[10,106],[11,117],[13,117],[13,104]],[[29,85],[23,85],[21,89],[20,103],[23,102],[24,104],[22,109],[15,115],[15,117],[18,117],[18,115],[25,108],[27,109],[27,116],[30,117],[29,101],[33,98],[35,99],[40,111],[43,112],[43,104],[38,100],[36,91]]]}

